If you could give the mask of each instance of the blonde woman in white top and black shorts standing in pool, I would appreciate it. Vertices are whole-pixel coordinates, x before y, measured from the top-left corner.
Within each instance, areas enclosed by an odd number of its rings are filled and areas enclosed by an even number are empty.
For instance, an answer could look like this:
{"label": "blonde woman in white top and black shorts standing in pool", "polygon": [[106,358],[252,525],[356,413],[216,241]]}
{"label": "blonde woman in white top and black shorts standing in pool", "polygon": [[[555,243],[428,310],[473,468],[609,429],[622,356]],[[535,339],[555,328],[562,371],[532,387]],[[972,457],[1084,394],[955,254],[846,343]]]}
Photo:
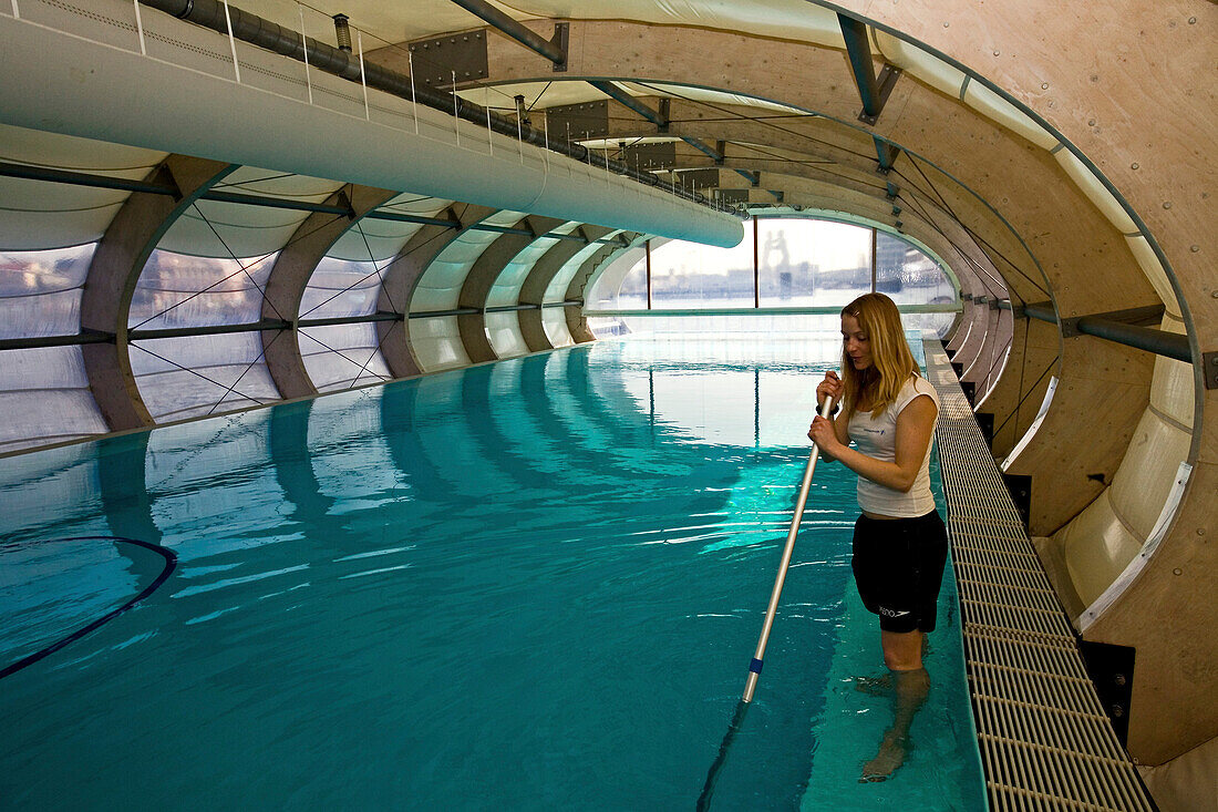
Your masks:
{"label": "blonde woman in white top and black shorts standing in pool", "polygon": [[905,761],[910,723],[929,689],[922,644],[934,630],[948,556],[929,473],[939,397],[918,376],[888,296],[866,294],[842,310],[842,374],[828,372],[816,386],[817,412],[826,397],[840,411],[817,415],[808,436],[821,456],[859,474],[851,567],[862,602],[879,616],[895,694],[893,727],[862,772],[864,780],[883,780]]}

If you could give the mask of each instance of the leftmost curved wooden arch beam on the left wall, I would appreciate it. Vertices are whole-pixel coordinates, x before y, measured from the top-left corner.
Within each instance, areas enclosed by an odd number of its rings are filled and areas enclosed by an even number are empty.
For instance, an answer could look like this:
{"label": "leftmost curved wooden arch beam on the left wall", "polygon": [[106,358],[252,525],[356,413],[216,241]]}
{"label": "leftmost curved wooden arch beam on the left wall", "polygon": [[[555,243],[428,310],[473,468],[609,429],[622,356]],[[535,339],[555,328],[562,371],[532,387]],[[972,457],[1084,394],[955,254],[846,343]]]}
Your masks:
{"label": "leftmost curved wooden arch beam on the left wall", "polygon": [[134,191],[97,244],[80,297],[80,329],[106,333],[112,341],[82,346],[85,374],[111,430],[152,426],[153,419],[132,372],[127,322],[132,296],[149,256],[169,227],[195,201],[238,167],[185,155],[171,155],[145,179],[173,188],[174,196]]}

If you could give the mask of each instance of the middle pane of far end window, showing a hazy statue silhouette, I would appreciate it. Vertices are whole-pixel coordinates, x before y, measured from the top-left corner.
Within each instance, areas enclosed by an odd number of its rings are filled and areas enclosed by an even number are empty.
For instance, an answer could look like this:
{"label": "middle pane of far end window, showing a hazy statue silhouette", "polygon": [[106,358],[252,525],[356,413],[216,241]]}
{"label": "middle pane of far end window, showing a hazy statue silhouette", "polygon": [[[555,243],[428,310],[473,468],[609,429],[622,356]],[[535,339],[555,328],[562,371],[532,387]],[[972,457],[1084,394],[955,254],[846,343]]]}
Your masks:
{"label": "middle pane of far end window, showing a hazy statue silhouette", "polygon": [[871,290],[871,229],[821,219],[762,219],[758,285],[762,307],[849,304]]}

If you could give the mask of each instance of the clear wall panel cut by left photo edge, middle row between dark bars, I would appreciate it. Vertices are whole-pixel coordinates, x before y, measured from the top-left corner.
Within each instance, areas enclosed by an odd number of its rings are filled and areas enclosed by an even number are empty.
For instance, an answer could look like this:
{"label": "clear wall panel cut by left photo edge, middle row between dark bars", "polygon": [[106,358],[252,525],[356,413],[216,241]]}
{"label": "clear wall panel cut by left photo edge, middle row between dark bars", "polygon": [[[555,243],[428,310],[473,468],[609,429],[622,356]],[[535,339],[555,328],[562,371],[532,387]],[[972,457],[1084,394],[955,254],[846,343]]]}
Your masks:
{"label": "clear wall panel cut by left photo edge, middle row between dark bars", "polygon": [[0,251],[0,338],[76,335],[96,243],[49,251]]}

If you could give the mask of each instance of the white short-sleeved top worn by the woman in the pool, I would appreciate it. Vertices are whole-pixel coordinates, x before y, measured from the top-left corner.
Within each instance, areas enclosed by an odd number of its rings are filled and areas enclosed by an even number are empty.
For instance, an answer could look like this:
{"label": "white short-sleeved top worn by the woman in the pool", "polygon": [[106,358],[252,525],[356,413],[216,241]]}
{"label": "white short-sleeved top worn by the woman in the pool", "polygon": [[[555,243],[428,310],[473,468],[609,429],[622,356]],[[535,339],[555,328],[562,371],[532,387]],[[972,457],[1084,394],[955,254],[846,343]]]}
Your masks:
{"label": "white short-sleeved top worn by the woman in the pool", "polygon": [[[884,410],[878,418],[871,412],[854,412],[850,415],[850,424],[847,433],[859,451],[883,460],[884,462],[896,461],[896,416],[909,406],[910,401],[918,395],[929,395],[934,406],[939,408],[939,394],[924,378],[910,376],[905,385],[896,394],[896,400]],[[939,421],[938,412],[934,416]],[[933,429],[932,429],[933,430]],[[932,438],[933,439],[933,438]],[[859,477],[859,507],[868,513],[879,516],[916,517],[926,516],[934,510],[934,494],[931,493],[931,445],[926,446],[926,457],[922,467],[918,468],[917,478],[909,493],[901,493],[892,488],[871,482],[866,477]]]}

